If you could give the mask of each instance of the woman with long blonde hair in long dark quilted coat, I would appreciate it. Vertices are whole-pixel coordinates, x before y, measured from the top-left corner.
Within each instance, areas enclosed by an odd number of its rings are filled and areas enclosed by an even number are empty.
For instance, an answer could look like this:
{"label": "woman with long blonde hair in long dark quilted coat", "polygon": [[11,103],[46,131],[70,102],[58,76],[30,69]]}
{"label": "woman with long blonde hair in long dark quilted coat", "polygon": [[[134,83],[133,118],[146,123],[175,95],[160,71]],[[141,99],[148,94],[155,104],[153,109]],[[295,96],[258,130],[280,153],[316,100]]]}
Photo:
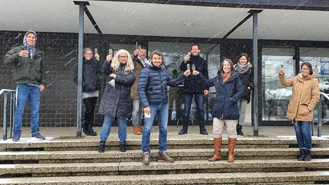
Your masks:
{"label": "woman with long blonde hair in long dark quilted coat", "polygon": [[127,138],[127,117],[132,113],[132,99],[130,88],[135,81],[134,64],[128,51],[120,49],[112,58],[106,56],[106,61],[101,68],[102,73],[108,75],[106,89],[99,105],[99,114],[104,115],[101,129],[99,153],[105,151],[105,143],[110,134],[114,119],[117,118],[120,151],[125,152]]}

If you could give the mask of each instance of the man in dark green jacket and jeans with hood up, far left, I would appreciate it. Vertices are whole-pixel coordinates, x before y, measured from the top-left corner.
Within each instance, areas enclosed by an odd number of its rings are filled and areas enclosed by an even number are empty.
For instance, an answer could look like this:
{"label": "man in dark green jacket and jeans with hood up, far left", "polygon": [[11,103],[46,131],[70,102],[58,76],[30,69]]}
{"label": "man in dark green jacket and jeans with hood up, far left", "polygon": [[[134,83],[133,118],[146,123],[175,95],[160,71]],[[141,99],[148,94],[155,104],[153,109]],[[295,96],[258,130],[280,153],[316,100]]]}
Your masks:
{"label": "man in dark green jacket and jeans with hood up, far left", "polygon": [[40,93],[45,89],[45,64],[42,51],[35,48],[36,32],[28,31],[23,39],[23,45],[10,49],[5,54],[4,62],[14,66],[14,81],[16,84],[16,111],[14,118],[13,141],[21,138],[21,127],[24,107],[27,100],[31,109],[32,137],[44,140],[39,132]]}

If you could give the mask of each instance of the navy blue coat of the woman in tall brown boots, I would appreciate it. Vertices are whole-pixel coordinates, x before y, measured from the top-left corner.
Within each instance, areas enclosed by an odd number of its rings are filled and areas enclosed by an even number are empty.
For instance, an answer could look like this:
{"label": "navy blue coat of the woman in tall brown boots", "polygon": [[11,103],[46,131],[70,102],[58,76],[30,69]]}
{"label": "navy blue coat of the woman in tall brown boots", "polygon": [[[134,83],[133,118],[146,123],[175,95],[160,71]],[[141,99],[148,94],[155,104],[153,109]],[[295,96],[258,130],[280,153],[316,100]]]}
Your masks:
{"label": "navy blue coat of the woman in tall brown boots", "polygon": [[225,83],[220,74],[208,80],[202,75],[197,77],[200,77],[208,87],[215,86],[216,98],[212,108],[212,117],[221,120],[238,120],[240,117],[238,101],[243,95],[239,73],[234,72]]}

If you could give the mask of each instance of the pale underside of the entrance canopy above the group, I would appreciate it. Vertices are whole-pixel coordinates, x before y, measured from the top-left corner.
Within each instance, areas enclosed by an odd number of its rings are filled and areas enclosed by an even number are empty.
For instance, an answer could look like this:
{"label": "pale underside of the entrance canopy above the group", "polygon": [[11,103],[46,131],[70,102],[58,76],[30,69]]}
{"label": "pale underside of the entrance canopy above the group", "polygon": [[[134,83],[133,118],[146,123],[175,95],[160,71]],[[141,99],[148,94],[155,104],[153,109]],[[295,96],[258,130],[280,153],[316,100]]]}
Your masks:
{"label": "pale underside of the entrance canopy above the group", "polygon": [[[248,15],[249,10],[254,9],[251,5],[251,8],[241,8],[237,5],[223,7],[224,4],[221,4],[222,7],[210,7],[152,2],[155,3],[89,1],[88,10],[103,34],[223,38],[232,27]],[[169,3],[174,2],[178,1],[169,1]],[[216,2],[225,3],[224,1]],[[284,6],[281,1],[280,7],[293,8],[293,5],[297,5],[297,1],[289,2],[294,4],[291,3],[291,6],[288,6],[289,3],[285,3],[286,6]],[[273,8],[271,5],[265,6],[262,16],[258,18],[260,25],[258,39],[329,41],[329,22],[327,21],[329,12],[315,11],[319,7],[315,6],[315,3],[313,6],[309,3],[310,1],[304,1],[300,4],[300,7],[309,10],[278,10],[270,9]],[[199,5],[205,4],[199,3]],[[36,32],[77,33],[76,5],[71,0],[2,0],[0,11],[2,13],[1,30],[34,29]],[[33,18],[24,21],[25,17]],[[84,32],[98,33],[90,21],[85,21]],[[248,19],[228,38],[252,39],[252,20]]]}

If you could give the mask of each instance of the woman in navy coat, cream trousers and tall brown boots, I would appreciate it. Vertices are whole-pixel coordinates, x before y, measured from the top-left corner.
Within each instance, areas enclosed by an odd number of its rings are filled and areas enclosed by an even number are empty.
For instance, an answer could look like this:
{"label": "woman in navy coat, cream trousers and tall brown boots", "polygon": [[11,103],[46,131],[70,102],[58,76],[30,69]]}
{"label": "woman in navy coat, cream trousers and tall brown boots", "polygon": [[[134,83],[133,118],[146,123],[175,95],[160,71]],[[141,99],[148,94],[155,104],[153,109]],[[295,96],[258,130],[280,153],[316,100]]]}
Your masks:
{"label": "woman in navy coat, cream trousers and tall brown boots", "polygon": [[243,95],[243,86],[239,73],[233,69],[230,59],[223,60],[217,76],[206,79],[199,72],[193,72],[202,78],[209,87],[215,86],[216,98],[212,108],[215,154],[209,161],[221,160],[221,134],[226,125],[228,132],[228,162],[234,162],[236,145],[236,122],[239,120],[238,101]]}

